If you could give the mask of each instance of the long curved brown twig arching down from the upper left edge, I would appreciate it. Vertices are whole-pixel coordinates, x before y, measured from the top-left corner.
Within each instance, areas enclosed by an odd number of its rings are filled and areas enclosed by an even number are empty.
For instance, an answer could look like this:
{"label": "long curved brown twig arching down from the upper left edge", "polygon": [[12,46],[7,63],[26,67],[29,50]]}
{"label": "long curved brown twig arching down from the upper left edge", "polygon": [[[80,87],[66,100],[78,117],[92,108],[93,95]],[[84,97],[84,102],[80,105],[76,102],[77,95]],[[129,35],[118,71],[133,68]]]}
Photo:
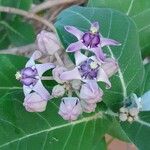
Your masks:
{"label": "long curved brown twig arching down from the upper left edge", "polygon": [[51,24],[47,20],[45,20],[42,17],[39,17],[38,15],[33,14],[31,12],[27,12],[27,11],[17,9],[17,8],[12,8],[12,7],[4,7],[4,6],[0,6],[0,12],[17,14],[17,15],[21,15],[21,16],[24,16],[29,19],[37,20],[37,21],[41,22],[42,24],[44,24],[45,26],[49,27],[53,32],[55,32],[55,27],[53,26],[53,24]]}

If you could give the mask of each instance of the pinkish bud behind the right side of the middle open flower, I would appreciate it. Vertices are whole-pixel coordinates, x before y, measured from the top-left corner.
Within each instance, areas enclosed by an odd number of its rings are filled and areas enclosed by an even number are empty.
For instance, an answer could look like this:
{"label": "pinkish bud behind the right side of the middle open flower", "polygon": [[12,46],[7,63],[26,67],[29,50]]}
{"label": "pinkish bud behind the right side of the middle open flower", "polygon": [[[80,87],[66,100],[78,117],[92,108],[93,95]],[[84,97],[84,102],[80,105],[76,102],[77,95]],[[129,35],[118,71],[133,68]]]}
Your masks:
{"label": "pinkish bud behind the right side of the middle open flower", "polygon": [[107,58],[105,59],[102,68],[107,74],[107,76],[111,77],[118,71],[118,63],[112,58]]}

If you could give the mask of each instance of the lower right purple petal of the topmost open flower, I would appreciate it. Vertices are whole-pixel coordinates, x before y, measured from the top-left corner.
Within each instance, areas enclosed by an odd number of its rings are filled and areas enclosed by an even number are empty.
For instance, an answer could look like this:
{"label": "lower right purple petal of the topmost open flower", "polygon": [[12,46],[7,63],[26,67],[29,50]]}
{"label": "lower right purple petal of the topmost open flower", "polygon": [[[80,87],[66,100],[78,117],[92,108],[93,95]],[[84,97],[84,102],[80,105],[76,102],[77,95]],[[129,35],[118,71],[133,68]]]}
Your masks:
{"label": "lower right purple petal of the topmost open flower", "polygon": [[95,48],[91,48],[89,49],[90,51],[92,51],[97,59],[101,62],[101,61],[104,61],[105,58],[106,58],[106,54],[103,52],[103,50],[101,49],[101,47],[95,47]]}

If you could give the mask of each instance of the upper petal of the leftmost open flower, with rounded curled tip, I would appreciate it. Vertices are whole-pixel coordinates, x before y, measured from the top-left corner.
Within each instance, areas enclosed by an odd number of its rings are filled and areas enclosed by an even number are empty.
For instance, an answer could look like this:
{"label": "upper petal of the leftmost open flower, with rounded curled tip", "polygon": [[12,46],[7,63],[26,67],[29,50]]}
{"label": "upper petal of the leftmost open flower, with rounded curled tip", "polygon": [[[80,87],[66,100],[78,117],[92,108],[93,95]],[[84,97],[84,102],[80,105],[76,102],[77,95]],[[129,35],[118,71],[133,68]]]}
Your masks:
{"label": "upper petal of the leftmost open flower, with rounded curled tip", "polygon": [[28,62],[26,63],[25,67],[32,67],[35,65],[35,60],[39,59],[42,56],[42,53],[40,51],[35,51],[31,58],[28,60]]}

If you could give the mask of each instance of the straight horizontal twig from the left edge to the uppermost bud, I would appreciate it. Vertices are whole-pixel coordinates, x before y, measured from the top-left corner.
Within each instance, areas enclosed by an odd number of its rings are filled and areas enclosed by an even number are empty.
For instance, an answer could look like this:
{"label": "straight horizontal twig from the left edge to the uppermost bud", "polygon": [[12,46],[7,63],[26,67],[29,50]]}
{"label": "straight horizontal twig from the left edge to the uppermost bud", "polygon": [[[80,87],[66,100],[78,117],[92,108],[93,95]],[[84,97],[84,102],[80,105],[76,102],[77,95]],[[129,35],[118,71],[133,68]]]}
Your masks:
{"label": "straight horizontal twig from the left edge to the uppermost bud", "polygon": [[16,53],[26,53],[31,52],[37,48],[36,44],[29,44],[26,46],[14,47],[9,49],[0,50],[0,54],[16,54]]}

